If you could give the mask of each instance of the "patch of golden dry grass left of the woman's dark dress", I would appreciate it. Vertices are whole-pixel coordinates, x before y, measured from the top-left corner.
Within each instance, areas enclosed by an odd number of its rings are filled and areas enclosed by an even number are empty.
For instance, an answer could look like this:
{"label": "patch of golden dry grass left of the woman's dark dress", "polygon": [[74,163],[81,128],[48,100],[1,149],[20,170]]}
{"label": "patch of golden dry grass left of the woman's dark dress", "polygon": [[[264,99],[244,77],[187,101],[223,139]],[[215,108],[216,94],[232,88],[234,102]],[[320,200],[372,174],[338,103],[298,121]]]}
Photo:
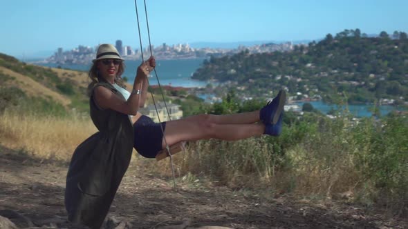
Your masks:
{"label": "patch of golden dry grass left of the woman's dark dress", "polygon": [[75,148],[96,131],[91,119],[75,114],[57,118],[6,110],[0,115],[1,144],[44,159],[70,159]]}

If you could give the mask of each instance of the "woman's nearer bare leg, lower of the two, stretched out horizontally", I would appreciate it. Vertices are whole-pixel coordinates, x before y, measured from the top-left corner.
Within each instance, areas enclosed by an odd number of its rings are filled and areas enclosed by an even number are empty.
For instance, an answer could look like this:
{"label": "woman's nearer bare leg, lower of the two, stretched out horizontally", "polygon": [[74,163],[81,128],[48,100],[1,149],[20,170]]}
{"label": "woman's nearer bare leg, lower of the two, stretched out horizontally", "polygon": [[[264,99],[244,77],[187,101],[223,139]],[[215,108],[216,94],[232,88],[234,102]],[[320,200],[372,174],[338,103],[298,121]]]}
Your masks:
{"label": "woman's nearer bare leg, lower of the two, stretched out horizontally", "polygon": [[[196,117],[195,119],[198,119]],[[180,141],[196,141],[200,139],[221,139],[234,141],[262,135],[265,131],[263,123],[219,124],[207,120],[180,119],[167,121],[163,148],[166,143],[171,146]],[[201,119],[203,119],[201,117]]]}

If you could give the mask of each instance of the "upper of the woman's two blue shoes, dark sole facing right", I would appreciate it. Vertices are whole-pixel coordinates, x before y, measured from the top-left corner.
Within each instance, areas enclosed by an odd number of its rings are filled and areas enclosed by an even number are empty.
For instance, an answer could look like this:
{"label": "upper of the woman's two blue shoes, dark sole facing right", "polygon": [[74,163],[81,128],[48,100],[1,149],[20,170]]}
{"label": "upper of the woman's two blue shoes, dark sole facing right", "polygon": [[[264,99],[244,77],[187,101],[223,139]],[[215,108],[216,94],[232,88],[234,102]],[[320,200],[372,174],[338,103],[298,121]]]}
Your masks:
{"label": "upper of the woman's two blue shoes, dark sole facing right", "polygon": [[263,124],[268,125],[269,123],[276,124],[281,116],[281,112],[284,110],[286,101],[286,92],[284,90],[279,90],[278,95],[269,101],[266,106],[264,106],[259,112],[259,119]]}

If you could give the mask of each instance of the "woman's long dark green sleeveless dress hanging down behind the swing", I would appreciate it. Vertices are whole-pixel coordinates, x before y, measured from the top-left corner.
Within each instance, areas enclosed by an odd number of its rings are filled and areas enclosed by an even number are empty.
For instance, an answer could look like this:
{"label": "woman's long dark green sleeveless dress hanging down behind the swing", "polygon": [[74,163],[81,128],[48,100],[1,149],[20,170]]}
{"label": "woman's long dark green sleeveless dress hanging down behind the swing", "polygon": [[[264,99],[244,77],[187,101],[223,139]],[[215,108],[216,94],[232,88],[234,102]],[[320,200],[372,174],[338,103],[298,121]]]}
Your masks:
{"label": "woman's long dark green sleeveless dress hanging down behind the swing", "polygon": [[[110,83],[96,86],[123,97]],[[91,94],[91,119],[99,132],[82,142],[73,153],[66,177],[65,206],[69,221],[100,228],[129,166],[133,127],[128,115],[98,109]]]}

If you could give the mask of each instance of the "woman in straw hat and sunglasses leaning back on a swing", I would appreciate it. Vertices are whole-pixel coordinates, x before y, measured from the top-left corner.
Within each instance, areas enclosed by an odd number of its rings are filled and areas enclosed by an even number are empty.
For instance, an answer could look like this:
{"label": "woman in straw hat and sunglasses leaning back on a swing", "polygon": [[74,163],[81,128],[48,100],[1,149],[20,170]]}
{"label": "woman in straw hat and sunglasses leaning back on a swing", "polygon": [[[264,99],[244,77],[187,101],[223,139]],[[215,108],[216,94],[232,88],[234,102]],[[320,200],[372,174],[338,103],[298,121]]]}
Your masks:
{"label": "woman in straw hat and sunglasses leaning back on a swing", "polygon": [[[129,166],[132,147],[144,157],[154,158],[180,141],[198,139],[245,139],[277,136],[286,95],[277,97],[261,110],[234,115],[196,115],[154,123],[138,109],[145,104],[147,76],[156,67],[150,57],[137,70],[133,90],[118,86],[124,63],[116,48],[102,44],[89,71],[91,118],[99,132],[77,147],[66,179],[65,203],[68,219],[100,228],[111,201]],[[163,130],[162,130],[163,128]],[[163,136],[164,131],[164,136]]]}

